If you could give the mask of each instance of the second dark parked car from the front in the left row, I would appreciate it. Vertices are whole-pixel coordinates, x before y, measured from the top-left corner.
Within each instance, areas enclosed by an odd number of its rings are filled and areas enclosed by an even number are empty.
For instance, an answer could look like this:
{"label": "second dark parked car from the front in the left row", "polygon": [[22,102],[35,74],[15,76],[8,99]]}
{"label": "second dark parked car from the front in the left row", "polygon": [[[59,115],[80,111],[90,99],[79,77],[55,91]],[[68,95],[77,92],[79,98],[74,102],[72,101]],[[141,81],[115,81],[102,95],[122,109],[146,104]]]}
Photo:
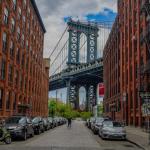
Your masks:
{"label": "second dark parked car from the front in the left row", "polygon": [[42,117],[34,117],[32,119],[33,123],[33,129],[35,134],[40,134],[41,132],[44,132],[44,121]]}

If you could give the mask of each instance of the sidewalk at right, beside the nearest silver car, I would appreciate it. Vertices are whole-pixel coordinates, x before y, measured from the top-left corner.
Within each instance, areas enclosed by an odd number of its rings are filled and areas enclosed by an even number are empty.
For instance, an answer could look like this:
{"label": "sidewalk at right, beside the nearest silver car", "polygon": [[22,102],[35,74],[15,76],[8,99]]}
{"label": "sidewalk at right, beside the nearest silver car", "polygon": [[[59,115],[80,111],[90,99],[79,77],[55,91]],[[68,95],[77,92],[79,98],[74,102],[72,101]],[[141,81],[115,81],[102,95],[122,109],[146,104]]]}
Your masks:
{"label": "sidewalk at right, beside the nearest silver car", "polygon": [[148,145],[149,143],[148,133],[142,131],[141,128],[136,128],[131,126],[127,126],[126,131],[127,131],[127,139],[130,142],[136,143],[137,145],[139,145],[145,150],[150,149],[150,145]]}

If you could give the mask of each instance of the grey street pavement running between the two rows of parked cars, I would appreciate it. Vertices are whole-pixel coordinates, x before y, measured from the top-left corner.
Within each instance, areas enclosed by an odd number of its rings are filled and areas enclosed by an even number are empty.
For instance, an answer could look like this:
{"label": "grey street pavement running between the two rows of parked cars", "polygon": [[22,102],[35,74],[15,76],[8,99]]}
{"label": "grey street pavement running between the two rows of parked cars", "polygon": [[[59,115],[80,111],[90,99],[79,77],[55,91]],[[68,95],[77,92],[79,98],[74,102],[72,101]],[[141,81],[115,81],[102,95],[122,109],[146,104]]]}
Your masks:
{"label": "grey street pavement running between the two rows of parked cars", "polygon": [[11,145],[0,144],[0,150],[140,150],[128,141],[102,140],[85,127],[82,121],[74,121],[70,128],[57,127],[27,141],[15,141]]}

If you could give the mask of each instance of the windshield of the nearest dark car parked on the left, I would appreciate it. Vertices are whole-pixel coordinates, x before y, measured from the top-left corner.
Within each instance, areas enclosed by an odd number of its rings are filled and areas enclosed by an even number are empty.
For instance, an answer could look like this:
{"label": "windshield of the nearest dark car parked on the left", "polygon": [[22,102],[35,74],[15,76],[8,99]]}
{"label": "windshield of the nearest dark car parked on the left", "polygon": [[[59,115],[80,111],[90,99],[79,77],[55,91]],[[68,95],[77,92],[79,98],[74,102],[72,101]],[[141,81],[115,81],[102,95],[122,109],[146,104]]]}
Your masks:
{"label": "windshield of the nearest dark car parked on the left", "polygon": [[11,117],[6,120],[6,124],[23,124],[25,123],[25,118],[23,117]]}

